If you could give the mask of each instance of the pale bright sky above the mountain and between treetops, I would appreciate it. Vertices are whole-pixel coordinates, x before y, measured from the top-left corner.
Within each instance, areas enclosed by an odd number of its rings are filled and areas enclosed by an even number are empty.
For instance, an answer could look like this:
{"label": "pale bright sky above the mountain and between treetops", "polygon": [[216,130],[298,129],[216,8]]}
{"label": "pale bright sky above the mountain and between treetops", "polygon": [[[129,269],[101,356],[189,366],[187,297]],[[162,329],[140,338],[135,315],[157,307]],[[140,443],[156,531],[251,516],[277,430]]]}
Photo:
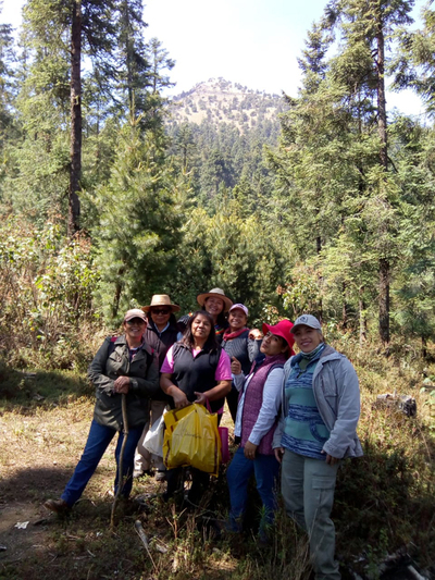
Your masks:
{"label": "pale bright sky above the mountain and between treetops", "polygon": [[[148,0],[148,38],[158,37],[176,61],[174,94],[222,76],[248,88],[297,95],[297,58],[307,30],[327,0]],[[425,0],[417,0],[418,16]],[[3,0],[1,22],[20,26],[23,0]],[[421,112],[411,92],[388,95],[388,109]]]}

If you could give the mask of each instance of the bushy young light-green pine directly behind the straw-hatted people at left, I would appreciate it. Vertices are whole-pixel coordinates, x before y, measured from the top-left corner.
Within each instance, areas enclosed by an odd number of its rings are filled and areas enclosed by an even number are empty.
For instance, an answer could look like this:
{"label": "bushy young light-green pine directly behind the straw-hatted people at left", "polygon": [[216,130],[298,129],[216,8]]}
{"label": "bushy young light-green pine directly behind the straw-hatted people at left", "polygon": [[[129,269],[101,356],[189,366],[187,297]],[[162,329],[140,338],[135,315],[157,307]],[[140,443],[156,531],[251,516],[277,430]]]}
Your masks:
{"label": "bushy young light-green pine directly behind the straw-hatted people at left", "polygon": [[161,294],[176,272],[181,244],[183,184],[173,174],[164,141],[139,122],[123,128],[111,177],[92,202],[99,213],[94,231],[101,271],[99,294],[112,317]]}

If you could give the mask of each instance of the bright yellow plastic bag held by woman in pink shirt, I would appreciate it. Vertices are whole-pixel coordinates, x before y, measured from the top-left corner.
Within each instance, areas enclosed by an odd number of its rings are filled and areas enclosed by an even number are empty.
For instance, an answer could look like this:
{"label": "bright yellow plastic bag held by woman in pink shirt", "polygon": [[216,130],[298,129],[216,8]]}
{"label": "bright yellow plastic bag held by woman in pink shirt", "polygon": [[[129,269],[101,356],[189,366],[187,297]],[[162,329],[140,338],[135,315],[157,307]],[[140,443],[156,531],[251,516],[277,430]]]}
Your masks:
{"label": "bright yellow plastic bag held by woman in pink shirt", "polygon": [[167,469],[191,466],[217,476],[221,437],[216,414],[194,404],[166,412],[164,423],[163,460]]}

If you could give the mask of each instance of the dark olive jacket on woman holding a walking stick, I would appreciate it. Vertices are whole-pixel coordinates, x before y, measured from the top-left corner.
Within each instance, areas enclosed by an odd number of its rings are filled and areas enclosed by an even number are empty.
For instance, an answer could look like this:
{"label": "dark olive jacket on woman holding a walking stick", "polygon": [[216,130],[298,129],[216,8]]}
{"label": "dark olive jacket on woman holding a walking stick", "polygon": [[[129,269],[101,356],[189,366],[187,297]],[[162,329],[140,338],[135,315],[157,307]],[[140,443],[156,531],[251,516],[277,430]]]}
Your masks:
{"label": "dark olive jacket on woman holding a walking stick", "polygon": [[96,386],[94,419],[97,423],[123,430],[122,395],[114,392],[119,377],[130,377],[127,394],[128,428],[144,425],[149,420],[149,400],[159,390],[157,354],[144,344],[129,361],[125,336],[108,336],[88,369],[88,378]]}

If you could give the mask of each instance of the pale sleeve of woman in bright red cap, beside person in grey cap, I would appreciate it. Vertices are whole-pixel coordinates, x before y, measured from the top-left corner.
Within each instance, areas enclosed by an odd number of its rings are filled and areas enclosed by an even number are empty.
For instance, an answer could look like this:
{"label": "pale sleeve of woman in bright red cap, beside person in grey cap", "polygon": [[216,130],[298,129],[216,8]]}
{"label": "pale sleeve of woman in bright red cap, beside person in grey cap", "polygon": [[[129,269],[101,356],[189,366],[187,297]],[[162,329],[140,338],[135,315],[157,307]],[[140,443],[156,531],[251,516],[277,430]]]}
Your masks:
{"label": "pale sleeve of woman in bright red cap, beside person in grey cap", "polygon": [[272,428],[278,415],[283,378],[284,369],[273,369],[264,383],[263,403],[248,439],[254,445],[260,445],[261,440]]}

